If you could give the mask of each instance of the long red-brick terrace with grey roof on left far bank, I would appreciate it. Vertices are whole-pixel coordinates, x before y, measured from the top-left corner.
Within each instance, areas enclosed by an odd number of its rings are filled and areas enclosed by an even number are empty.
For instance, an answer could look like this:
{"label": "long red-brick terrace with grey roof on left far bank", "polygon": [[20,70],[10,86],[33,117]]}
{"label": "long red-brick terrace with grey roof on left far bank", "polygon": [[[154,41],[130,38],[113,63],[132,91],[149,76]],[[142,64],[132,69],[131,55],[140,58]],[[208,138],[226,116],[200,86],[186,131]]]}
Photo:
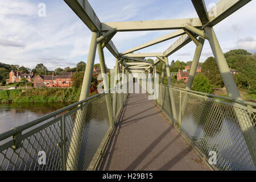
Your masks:
{"label": "long red-brick terrace with grey roof on left far bank", "polygon": [[67,87],[72,86],[72,82],[72,72],[61,73],[57,76],[53,72],[52,75],[38,75],[34,78],[35,87]]}

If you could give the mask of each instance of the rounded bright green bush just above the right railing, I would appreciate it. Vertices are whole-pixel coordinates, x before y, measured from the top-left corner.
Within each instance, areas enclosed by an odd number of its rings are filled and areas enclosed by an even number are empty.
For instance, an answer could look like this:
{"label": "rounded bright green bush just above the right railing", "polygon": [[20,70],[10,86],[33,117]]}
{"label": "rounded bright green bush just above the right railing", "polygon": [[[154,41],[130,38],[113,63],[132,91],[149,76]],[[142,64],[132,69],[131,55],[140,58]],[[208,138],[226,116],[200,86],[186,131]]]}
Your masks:
{"label": "rounded bright green bush just above the right railing", "polygon": [[193,80],[192,90],[204,93],[212,93],[212,85],[210,84],[207,77],[199,73]]}

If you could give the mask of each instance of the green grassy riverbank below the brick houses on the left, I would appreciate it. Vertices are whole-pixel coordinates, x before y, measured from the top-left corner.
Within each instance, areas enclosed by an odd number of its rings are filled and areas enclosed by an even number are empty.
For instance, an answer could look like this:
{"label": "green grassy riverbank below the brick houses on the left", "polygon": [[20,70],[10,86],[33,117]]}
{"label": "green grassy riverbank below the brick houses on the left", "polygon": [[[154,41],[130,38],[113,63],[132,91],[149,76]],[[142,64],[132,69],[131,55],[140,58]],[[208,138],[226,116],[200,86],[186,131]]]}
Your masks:
{"label": "green grassy riverbank below the brick houses on the left", "polygon": [[0,90],[1,103],[76,102],[79,96],[74,88]]}

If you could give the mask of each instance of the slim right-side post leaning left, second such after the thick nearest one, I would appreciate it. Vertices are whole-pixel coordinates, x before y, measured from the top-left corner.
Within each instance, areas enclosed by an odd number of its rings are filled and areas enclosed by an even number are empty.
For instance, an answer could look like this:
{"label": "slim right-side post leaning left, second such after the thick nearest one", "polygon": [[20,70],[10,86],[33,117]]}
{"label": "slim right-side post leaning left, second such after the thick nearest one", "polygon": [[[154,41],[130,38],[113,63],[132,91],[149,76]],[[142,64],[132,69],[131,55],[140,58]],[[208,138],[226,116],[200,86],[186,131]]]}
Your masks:
{"label": "slim right-side post leaning left, second such after the thick nearest one", "polygon": [[[171,72],[170,72],[170,66],[168,62],[168,57],[164,57],[164,60],[166,61],[166,73],[167,73],[167,79],[168,79],[168,85],[172,86],[172,80],[171,80]],[[177,111],[176,111],[176,105],[174,101],[174,92],[172,91],[172,88],[168,88],[169,90],[169,96],[171,100],[171,106],[172,106],[172,114],[174,115],[174,119],[177,121]],[[179,121],[178,121],[179,123]]]}

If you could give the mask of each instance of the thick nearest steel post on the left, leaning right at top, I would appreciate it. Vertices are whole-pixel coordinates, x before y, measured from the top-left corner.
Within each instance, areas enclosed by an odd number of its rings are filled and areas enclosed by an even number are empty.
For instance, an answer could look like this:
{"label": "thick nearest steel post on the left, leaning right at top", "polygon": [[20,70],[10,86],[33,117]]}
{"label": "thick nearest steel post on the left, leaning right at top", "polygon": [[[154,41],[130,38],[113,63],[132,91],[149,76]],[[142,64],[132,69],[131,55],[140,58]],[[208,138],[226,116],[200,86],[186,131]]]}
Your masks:
{"label": "thick nearest steel post on the left, leaning right at top", "polygon": [[[92,40],[90,42],[90,49],[84,73],[84,80],[82,81],[82,88],[79,101],[85,100],[87,97],[89,97],[90,82],[92,80],[93,64],[97,47],[96,39],[98,37],[98,34],[98,32],[92,32]],[[68,150],[67,170],[74,171],[77,169],[81,146],[82,129],[84,127],[85,122],[85,113],[86,111],[82,111],[80,117],[79,115],[77,115],[76,121],[74,123],[71,143]]]}

